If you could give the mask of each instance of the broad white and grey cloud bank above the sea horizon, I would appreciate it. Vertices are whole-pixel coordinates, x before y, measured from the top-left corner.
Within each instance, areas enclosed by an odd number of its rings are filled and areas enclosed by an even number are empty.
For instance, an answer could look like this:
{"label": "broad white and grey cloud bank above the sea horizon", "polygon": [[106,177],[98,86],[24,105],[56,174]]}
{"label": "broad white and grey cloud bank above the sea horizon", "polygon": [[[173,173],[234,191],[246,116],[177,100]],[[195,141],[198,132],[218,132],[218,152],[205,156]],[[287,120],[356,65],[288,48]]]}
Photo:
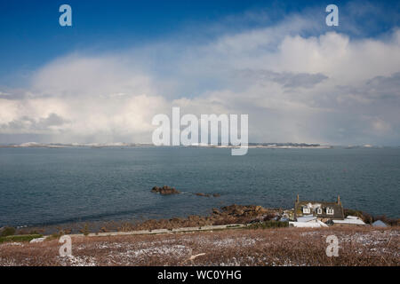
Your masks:
{"label": "broad white and grey cloud bank above the sea horizon", "polygon": [[398,146],[400,29],[352,39],[314,27],[296,15],[201,43],[62,56],[27,88],[0,90],[0,143],[149,143],[153,116],[180,106],[249,114],[250,142]]}

